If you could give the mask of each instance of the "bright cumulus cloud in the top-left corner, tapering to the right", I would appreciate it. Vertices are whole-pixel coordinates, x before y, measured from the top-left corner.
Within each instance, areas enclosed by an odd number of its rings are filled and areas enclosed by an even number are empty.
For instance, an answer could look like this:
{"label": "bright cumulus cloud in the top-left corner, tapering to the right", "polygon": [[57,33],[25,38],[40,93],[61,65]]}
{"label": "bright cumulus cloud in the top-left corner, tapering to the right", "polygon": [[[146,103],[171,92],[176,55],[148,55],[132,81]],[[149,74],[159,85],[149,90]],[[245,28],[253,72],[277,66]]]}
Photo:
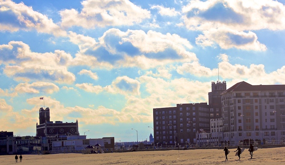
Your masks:
{"label": "bright cumulus cloud in the top-left corner, tapering to the right", "polygon": [[0,30],[15,32],[18,30],[37,30],[40,33],[53,34],[55,36],[66,36],[52,19],[34,11],[32,7],[23,2],[16,4],[11,0],[0,1],[0,14],[5,19],[0,22]]}

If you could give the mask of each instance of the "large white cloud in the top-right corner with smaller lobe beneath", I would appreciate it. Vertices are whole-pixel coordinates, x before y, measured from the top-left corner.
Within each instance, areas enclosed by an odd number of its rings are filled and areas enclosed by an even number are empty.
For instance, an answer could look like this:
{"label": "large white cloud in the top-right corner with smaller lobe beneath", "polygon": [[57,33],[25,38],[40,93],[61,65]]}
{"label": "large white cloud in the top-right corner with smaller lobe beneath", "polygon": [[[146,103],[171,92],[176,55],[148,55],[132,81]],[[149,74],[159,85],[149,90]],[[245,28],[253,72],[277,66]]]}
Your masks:
{"label": "large white cloud in the top-right corner with smaller lobe beneath", "polygon": [[251,31],[285,27],[284,5],[271,0],[192,0],[182,11],[185,26],[203,32],[196,38],[201,46],[214,46],[215,42],[223,49],[265,51],[265,45]]}

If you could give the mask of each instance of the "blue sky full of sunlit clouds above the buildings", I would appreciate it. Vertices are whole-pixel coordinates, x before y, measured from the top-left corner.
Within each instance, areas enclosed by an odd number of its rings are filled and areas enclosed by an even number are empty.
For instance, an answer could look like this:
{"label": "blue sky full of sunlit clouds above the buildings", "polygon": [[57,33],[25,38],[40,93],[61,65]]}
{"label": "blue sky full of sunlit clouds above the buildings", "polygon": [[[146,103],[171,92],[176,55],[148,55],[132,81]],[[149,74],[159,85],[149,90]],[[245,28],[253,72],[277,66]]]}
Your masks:
{"label": "blue sky full of sunlit clouds above the buildings", "polygon": [[36,136],[49,107],[87,138],[149,140],[153,108],[213,81],[285,84],[284,41],[285,0],[0,0],[0,131]]}

